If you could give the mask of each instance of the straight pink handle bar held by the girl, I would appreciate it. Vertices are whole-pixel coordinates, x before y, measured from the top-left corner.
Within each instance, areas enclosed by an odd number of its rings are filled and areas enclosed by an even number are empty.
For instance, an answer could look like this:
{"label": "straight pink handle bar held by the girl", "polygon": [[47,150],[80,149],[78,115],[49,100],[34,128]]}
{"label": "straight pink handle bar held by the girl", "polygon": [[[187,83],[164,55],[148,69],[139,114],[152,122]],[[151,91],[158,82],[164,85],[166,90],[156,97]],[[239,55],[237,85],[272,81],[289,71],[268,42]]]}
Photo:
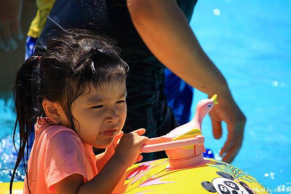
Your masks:
{"label": "straight pink handle bar held by the girl", "polygon": [[204,144],[204,136],[197,135],[194,138],[142,146],[141,152],[149,153],[149,152],[162,151],[166,149],[173,149],[173,148],[192,146],[192,145],[203,145],[203,144]]}

